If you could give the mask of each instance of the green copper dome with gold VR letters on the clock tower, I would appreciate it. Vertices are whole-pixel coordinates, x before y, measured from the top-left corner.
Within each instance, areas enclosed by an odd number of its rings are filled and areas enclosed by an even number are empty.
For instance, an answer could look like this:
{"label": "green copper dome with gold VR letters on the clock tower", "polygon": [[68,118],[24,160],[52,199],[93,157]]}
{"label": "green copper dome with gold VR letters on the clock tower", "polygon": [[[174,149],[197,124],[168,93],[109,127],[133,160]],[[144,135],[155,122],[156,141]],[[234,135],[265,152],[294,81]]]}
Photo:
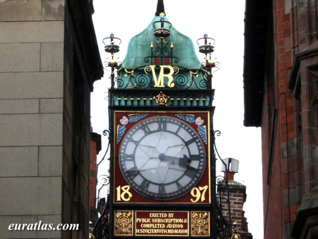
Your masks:
{"label": "green copper dome with gold VR letters on the clock tower", "polygon": [[117,88],[206,89],[204,74],[192,40],[160,12],[129,41],[123,65],[118,69]]}

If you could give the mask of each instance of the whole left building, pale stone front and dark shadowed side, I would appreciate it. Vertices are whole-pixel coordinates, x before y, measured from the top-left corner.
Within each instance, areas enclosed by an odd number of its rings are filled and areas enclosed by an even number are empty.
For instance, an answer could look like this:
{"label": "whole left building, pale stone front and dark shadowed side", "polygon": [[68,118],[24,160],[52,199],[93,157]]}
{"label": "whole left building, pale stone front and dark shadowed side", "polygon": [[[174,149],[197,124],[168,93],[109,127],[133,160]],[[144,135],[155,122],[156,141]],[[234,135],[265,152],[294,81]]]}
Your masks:
{"label": "whole left building, pale stone front and dark shadowed side", "polygon": [[[0,238],[88,238],[92,0],[0,1]],[[8,230],[79,224],[78,231]]]}

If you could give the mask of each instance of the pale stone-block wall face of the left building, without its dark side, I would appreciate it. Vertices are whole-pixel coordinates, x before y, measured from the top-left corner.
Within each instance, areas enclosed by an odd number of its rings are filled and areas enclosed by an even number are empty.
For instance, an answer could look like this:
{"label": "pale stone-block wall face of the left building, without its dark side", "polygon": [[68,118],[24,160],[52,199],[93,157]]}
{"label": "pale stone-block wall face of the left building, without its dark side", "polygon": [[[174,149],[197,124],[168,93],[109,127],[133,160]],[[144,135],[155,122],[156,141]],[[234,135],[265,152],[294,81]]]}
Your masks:
{"label": "pale stone-block wall face of the left building, without its dark side", "polygon": [[8,225],[61,222],[64,1],[1,1],[0,29],[0,238],[60,238]]}

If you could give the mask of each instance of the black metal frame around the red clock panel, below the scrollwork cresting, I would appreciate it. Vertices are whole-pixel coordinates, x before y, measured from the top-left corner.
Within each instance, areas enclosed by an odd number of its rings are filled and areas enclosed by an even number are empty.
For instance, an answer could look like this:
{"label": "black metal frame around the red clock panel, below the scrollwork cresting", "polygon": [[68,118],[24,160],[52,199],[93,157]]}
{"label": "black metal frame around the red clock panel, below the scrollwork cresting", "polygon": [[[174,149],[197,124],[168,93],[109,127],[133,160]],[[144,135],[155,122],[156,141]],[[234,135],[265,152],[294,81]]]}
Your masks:
{"label": "black metal frame around the red clock panel, below the scrollwork cresting", "polygon": [[[212,77],[212,76],[211,76]],[[113,122],[113,111],[116,109],[116,110],[122,110],[122,111],[135,111],[135,110],[140,110],[140,111],[146,111],[146,110],[149,110],[149,109],[156,109],[157,111],[161,110],[161,111],[171,111],[171,112],[174,112],[174,111],[210,111],[211,114],[210,114],[210,121],[211,121],[211,128],[210,128],[210,131],[211,131],[211,135],[213,135],[213,137],[211,137],[211,148],[213,148],[214,150],[211,151],[211,180],[212,180],[212,184],[211,184],[211,190],[212,190],[212,203],[210,205],[210,208],[206,208],[205,207],[202,207],[201,206],[197,206],[197,205],[192,205],[192,206],[195,206],[194,208],[196,210],[199,209],[204,209],[204,210],[209,210],[211,212],[211,229],[215,230],[214,232],[211,232],[211,235],[210,237],[212,239],[230,239],[231,236],[232,236],[232,232],[231,232],[231,219],[230,219],[230,222],[228,222],[224,217],[223,217],[223,209],[222,209],[222,204],[220,204],[217,200],[217,197],[216,197],[216,187],[217,187],[217,184],[219,182],[217,182],[215,180],[216,178],[216,175],[215,175],[215,151],[216,153],[218,154],[217,152],[217,149],[216,149],[216,145],[215,145],[215,136],[218,136],[220,135],[220,131],[219,130],[216,130],[216,131],[213,131],[213,112],[214,112],[214,107],[212,106],[212,99],[213,99],[213,95],[214,95],[214,90],[211,89],[211,90],[195,90],[195,91],[189,91],[189,90],[172,90],[172,89],[166,89],[165,91],[163,91],[162,93],[168,95],[168,96],[174,96],[174,95],[184,95],[185,97],[193,97],[195,94],[202,94],[202,95],[205,95],[206,97],[209,97],[211,99],[211,101],[209,102],[209,104],[207,106],[185,106],[185,104],[180,104],[181,100],[178,101],[178,104],[177,105],[170,105],[170,106],[156,106],[156,108],[154,108],[154,106],[140,106],[139,104],[132,104],[132,105],[127,105],[127,104],[124,104],[123,106],[116,106],[115,105],[115,101],[114,101],[114,97],[118,97],[120,95],[124,95],[126,98],[129,98],[129,96],[131,96],[133,98],[136,97],[136,96],[144,96],[144,95],[157,95],[159,94],[159,90],[157,89],[146,89],[146,90],[127,90],[127,89],[109,89],[109,119],[110,119],[110,129],[109,129],[109,132],[110,132],[110,137],[113,138],[114,135],[112,135],[112,132],[113,132],[113,125],[114,125],[114,122]],[[126,103],[127,103],[127,100],[125,100]],[[132,100],[133,102],[133,100]],[[185,103],[185,101],[184,101]],[[113,142],[114,140],[110,140],[110,148],[113,148]],[[110,154],[110,157],[113,158],[114,155],[113,155],[113,152],[111,152]],[[219,158],[221,158],[219,156]],[[222,159],[221,159],[222,160]],[[113,162],[111,161],[110,162],[110,167],[112,168],[113,167]],[[227,183],[227,180],[224,181],[227,185],[227,189],[228,189],[228,183]],[[112,188],[112,184],[110,184],[110,191],[112,192],[113,191],[113,188]],[[229,190],[227,190],[229,191]],[[229,199],[229,194],[227,194],[227,197],[228,197],[228,203],[230,202],[230,199]],[[111,199],[110,199],[111,201]],[[109,201],[107,200],[107,204],[109,203]],[[123,209],[127,209],[127,208],[131,208],[132,205],[130,205],[129,203],[128,204],[124,204],[121,206],[121,208]],[[148,207],[152,207],[154,205],[149,205]],[[111,228],[108,228],[108,225],[113,225],[114,223],[114,219],[112,218],[114,215],[112,215],[112,204],[110,203],[109,205],[106,205],[105,208],[107,207],[107,215],[106,213],[102,213],[101,216],[100,216],[100,219],[95,223],[95,226],[94,226],[94,236],[95,237],[99,237],[99,238],[112,238],[112,230]],[[164,208],[169,208],[169,204],[165,204],[164,205]],[[184,210],[184,206],[183,205],[171,205],[171,207],[174,207],[176,210]],[[193,208],[193,209],[194,209]],[[229,210],[230,210],[230,207],[229,207]],[[106,212],[106,211],[105,211]],[[108,215],[109,213],[109,215]],[[229,212],[229,215],[231,215],[231,212]],[[101,229],[104,229],[101,230]],[[107,233],[105,233],[105,230],[108,230]],[[99,233],[99,235],[97,235]],[[116,236],[116,238],[120,239],[121,237],[118,237]],[[169,237],[171,238],[171,237]],[[173,238],[173,237],[172,237]]]}

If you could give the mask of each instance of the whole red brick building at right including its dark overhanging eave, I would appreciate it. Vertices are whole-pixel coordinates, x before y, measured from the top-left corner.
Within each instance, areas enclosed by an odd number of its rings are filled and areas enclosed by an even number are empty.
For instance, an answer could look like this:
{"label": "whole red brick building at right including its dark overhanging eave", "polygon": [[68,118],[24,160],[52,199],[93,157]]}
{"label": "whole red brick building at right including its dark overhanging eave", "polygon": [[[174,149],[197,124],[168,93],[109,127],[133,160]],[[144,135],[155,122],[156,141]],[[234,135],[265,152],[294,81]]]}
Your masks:
{"label": "whole red brick building at right including its dark overhanging eave", "polygon": [[244,125],[262,131],[265,239],[318,238],[317,19],[317,0],[246,0]]}

